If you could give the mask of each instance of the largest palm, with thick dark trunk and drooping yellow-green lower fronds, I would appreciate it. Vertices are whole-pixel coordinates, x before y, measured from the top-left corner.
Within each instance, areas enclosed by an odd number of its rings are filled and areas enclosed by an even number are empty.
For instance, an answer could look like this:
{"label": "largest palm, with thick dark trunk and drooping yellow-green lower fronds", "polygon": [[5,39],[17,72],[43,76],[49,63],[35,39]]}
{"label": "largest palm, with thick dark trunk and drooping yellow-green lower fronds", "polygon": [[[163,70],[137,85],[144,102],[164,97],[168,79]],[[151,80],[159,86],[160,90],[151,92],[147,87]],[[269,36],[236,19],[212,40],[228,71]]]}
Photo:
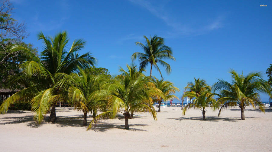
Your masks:
{"label": "largest palm, with thick dark trunk and drooping yellow-green lower fronds", "polygon": [[[58,102],[58,94],[61,92],[61,90],[53,88],[56,83],[55,75],[78,72],[79,68],[88,68],[90,65],[94,65],[96,59],[90,53],[79,55],[78,51],[85,45],[85,41],[82,39],[73,41],[70,49],[67,49],[66,32],[58,33],[54,38],[44,36],[41,32],[38,34],[38,39],[44,42],[41,59],[33,54],[33,60],[20,65],[21,74],[9,81],[10,84],[24,82],[26,88],[6,99],[0,106],[0,111],[5,113],[14,102],[31,100],[32,111],[35,113],[34,120],[40,123],[52,107],[49,122],[54,123],[57,120],[56,102]],[[16,45],[12,48],[12,51],[17,50],[31,53],[27,48],[21,46]]]}

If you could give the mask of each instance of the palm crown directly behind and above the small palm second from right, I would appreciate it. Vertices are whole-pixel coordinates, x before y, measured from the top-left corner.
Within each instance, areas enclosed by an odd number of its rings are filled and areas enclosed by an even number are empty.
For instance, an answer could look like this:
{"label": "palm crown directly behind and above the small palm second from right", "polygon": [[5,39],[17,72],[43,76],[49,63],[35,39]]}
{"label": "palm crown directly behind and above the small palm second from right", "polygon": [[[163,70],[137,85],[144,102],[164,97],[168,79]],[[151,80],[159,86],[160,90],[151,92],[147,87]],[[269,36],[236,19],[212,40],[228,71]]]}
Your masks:
{"label": "palm crown directly behind and above the small palm second from right", "polygon": [[[184,89],[188,91],[184,90],[183,97],[187,96],[186,94],[194,94],[196,97],[199,97],[202,92],[208,91],[209,89],[211,89],[211,87],[206,83],[205,80],[194,78],[194,82],[188,82],[187,86],[184,87]],[[194,96],[187,97],[192,99]]]}

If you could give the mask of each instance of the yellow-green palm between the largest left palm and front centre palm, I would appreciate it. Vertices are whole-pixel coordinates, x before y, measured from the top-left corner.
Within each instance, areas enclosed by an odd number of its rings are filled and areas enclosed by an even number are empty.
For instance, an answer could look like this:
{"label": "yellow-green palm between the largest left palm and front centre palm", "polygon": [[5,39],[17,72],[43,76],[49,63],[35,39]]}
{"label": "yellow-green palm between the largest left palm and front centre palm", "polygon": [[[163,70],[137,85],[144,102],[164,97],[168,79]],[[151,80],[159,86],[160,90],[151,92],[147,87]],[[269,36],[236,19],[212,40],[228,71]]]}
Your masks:
{"label": "yellow-green palm between the largest left palm and front centre palm", "polygon": [[65,90],[66,98],[60,98],[68,101],[74,105],[75,109],[82,110],[83,126],[87,126],[87,113],[93,113],[93,117],[97,114],[98,108],[104,108],[106,105],[105,95],[106,82],[108,78],[105,75],[92,76],[79,69],[79,75],[71,74],[58,74],[60,80],[56,83],[55,87]]}

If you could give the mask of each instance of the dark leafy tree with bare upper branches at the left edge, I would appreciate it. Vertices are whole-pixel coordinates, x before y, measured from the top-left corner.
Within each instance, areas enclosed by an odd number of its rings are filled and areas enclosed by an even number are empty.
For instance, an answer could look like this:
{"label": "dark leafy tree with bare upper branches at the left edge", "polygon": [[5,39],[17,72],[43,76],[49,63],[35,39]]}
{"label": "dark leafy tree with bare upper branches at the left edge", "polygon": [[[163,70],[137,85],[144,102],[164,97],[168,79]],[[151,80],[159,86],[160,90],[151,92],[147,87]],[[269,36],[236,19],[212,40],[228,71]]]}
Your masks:
{"label": "dark leafy tree with bare upper branches at the left edge", "polygon": [[11,47],[15,44],[21,45],[33,53],[36,53],[37,49],[33,49],[31,44],[22,41],[28,33],[24,23],[19,23],[12,17],[12,10],[14,7],[9,0],[0,0],[0,88],[15,90],[22,89],[23,84],[13,84],[8,87],[5,81],[10,75],[20,72],[19,64],[30,59],[30,55],[21,50],[11,51]]}

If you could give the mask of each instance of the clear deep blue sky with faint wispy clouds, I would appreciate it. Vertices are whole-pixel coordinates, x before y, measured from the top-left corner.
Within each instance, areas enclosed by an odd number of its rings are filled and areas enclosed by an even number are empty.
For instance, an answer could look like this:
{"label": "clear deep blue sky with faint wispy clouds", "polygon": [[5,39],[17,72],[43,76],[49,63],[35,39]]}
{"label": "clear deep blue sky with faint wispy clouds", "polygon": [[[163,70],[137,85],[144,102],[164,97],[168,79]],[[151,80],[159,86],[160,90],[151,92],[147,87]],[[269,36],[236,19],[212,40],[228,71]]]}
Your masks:
{"label": "clear deep blue sky with faint wispy clouds", "polygon": [[[272,57],[272,1],[27,1],[11,0],[14,18],[26,23],[26,43],[41,50],[37,33],[54,36],[67,31],[74,39],[87,41],[81,53],[91,52],[98,67],[118,74],[131,63],[130,56],[141,52],[136,41],[158,35],[172,47],[176,62],[167,61],[172,81],[183,93],[193,78],[212,85],[217,78],[230,81],[230,68],[239,73],[266,69]],[[267,5],[267,7],[260,7]],[[136,62],[138,64],[138,62]],[[147,68],[147,74],[150,66]],[[158,78],[157,71],[152,74]],[[267,95],[261,96],[264,102]]]}

